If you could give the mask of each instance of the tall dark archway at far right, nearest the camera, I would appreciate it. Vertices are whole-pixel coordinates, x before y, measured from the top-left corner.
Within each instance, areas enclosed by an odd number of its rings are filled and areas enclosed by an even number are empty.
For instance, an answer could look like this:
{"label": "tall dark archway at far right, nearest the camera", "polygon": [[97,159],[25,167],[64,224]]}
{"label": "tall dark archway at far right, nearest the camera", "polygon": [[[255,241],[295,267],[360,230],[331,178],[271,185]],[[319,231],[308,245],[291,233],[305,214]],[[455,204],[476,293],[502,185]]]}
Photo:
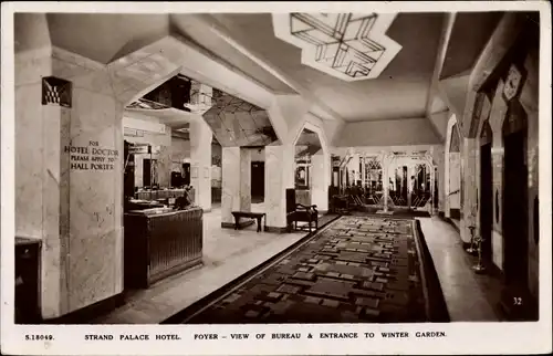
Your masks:
{"label": "tall dark archway at far right, nearest the camera", "polygon": [[528,285],[528,166],[526,113],[518,100],[511,101],[502,127],[503,156],[503,271],[505,282]]}

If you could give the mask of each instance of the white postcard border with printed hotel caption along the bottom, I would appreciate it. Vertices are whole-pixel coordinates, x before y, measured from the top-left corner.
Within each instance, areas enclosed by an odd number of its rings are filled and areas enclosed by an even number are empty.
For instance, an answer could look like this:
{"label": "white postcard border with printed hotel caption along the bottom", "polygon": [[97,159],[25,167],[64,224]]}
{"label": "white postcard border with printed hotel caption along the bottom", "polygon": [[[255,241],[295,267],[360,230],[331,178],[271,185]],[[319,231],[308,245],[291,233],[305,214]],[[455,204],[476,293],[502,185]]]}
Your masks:
{"label": "white postcard border with printed hotel caption along the bottom", "polygon": [[[132,7],[129,7],[132,4]],[[541,12],[540,55],[540,322],[448,324],[316,324],[316,325],[14,325],[14,66],[13,12]],[[551,6],[530,1],[411,2],[3,2],[1,87],[1,348],[19,355],[274,355],[274,354],[534,354],[551,352]],[[32,202],[30,202],[32,203]],[[410,337],[384,339],[380,332],[407,332]],[[321,339],[320,333],[357,333],[356,339]],[[417,332],[444,332],[445,337],[416,337]],[[179,341],[85,342],[87,334],[177,334]],[[232,339],[231,333],[250,334]],[[301,333],[300,339],[271,339],[271,334]],[[306,335],[311,333],[312,339]],[[374,333],[375,337],[365,337]],[[25,335],[53,335],[54,341],[25,341]],[[218,334],[226,339],[195,339]],[[263,338],[255,338],[265,334]],[[269,335],[269,336],[268,336]],[[259,336],[258,336],[259,337]]]}

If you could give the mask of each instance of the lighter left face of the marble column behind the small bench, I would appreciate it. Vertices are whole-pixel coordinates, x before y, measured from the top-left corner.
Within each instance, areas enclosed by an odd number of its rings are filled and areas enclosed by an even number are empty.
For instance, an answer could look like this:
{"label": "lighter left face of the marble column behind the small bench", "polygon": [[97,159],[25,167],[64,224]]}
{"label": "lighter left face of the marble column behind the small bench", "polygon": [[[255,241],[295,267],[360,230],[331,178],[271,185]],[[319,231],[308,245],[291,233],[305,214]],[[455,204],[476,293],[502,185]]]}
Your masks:
{"label": "lighter left face of the marble column behind the small bench", "polygon": [[239,167],[240,147],[222,147],[221,222],[233,223],[231,211],[240,210]]}

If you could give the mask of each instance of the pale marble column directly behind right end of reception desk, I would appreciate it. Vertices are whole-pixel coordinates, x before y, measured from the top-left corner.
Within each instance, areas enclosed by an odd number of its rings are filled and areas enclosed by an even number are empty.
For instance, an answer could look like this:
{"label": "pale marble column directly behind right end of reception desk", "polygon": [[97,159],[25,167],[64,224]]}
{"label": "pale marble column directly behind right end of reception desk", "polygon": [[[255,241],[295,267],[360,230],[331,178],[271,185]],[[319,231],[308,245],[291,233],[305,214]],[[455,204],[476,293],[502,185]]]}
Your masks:
{"label": "pale marble column directly behind right end of reception desk", "polygon": [[201,117],[190,123],[190,185],[195,189],[195,203],[204,211],[211,210],[212,138],[211,128]]}

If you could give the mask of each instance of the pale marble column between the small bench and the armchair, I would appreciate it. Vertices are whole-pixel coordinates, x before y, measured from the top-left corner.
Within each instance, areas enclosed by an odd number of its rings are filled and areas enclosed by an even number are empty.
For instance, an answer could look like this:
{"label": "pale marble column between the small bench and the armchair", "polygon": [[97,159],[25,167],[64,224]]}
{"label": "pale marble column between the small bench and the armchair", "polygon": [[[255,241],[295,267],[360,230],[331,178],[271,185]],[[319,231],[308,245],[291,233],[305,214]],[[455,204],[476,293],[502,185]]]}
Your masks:
{"label": "pale marble column between the small bench and the armchair", "polygon": [[265,147],[265,212],[269,231],[286,228],[286,189],[294,188],[294,146]]}

